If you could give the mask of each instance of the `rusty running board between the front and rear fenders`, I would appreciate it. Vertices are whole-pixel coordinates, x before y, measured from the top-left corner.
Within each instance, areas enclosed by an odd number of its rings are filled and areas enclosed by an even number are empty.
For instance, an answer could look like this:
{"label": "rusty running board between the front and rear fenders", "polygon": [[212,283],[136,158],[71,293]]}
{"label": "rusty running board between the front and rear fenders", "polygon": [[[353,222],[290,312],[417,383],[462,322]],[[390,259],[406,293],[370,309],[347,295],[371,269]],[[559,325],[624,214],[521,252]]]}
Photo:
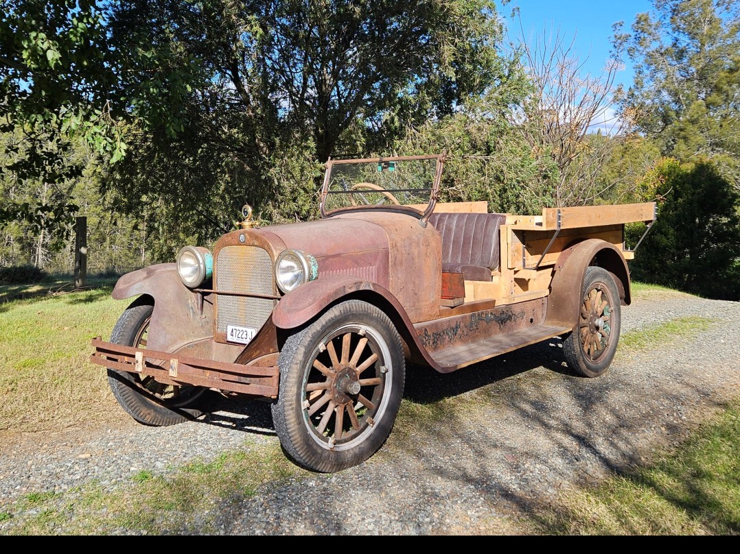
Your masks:
{"label": "rusty running board between the front and rear fenders", "polygon": [[449,372],[568,332],[571,332],[570,327],[537,325],[482,338],[472,343],[448,346],[436,352],[429,352],[429,355],[439,364],[440,369]]}

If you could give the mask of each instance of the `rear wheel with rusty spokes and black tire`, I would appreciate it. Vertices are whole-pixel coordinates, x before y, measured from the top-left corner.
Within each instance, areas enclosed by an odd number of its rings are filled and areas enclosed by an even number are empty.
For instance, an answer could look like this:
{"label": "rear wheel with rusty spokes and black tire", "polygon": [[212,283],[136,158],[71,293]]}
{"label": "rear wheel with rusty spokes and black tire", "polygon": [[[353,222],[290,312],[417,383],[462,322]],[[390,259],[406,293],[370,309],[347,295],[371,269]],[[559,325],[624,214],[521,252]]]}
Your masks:
{"label": "rear wheel with rusty spokes and black tire", "polygon": [[614,278],[603,267],[590,266],[582,289],[575,329],[562,343],[568,366],[582,377],[603,375],[619,342],[622,310]]}

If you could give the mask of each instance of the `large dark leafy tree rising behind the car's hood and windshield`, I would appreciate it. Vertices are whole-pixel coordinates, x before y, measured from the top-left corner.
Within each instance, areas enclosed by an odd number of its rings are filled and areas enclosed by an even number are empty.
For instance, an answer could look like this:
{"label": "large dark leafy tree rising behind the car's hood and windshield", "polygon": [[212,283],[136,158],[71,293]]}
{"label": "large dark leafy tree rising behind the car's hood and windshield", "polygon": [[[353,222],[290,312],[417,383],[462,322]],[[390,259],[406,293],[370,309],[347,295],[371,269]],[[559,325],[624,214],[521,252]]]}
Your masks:
{"label": "large dark leafy tree rising behind the car's hood and windshield", "polygon": [[[142,211],[157,198],[178,225],[211,236],[245,200],[263,219],[315,216],[330,155],[387,151],[508,70],[488,0],[141,0],[117,4],[110,26],[130,52],[121,91],[141,100],[131,155],[110,181],[126,191],[118,205]],[[169,64],[152,71],[132,40],[169,52]],[[187,67],[201,73],[170,78]],[[145,93],[150,83],[157,94]],[[186,90],[180,112],[172,89]],[[174,133],[152,117],[165,113]]]}

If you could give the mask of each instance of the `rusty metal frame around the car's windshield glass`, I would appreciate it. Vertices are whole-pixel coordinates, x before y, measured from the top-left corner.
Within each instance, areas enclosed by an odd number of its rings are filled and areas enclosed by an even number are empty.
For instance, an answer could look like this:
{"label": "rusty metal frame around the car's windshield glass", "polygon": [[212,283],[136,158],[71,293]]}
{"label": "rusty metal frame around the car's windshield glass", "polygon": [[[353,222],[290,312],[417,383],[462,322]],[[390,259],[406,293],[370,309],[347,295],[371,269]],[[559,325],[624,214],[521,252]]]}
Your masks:
{"label": "rusty metal frame around the car's windshield glass", "polygon": [[[432,182],[431,185],[431,191],[429,193],[429,203],[426,206],[424,210],[419,210],[417,208],[412,208],[411,206],[404,206],[404,205],[357,205],[357,206],[351,206],[347,208],[335,208],[334,210],[327,211],[326,206],[326,196],[328,194],[332,194],[329,192],[329,182],[331,182],[332,179],[332,168],[334,165],[349,165],[349,164],[360,164],[360,163],[382,163],[382,162],[404,162],[408,160],[436,160],[437,165],[434,171],[434,182]],[[321,186],[321,194],[319,199],[319,211],[321,213],[322,218],[331,217],[336,215],[337,213],[347,213],[347,212],[358,212],[358,211],[366,211],[366,210],[375,210],[375,211],[400,211],[403,213],[409,213],[412,216],[417,217],[418,219],[421,219],[422,222],[426,222],[428,217],[431,215],[432,211],[434,211],[434,205],[437,204],[437,199],[439,198],[439,192],[440,192],[440,182],[442,180],[442,170],[445,164],[445,154],[431,154],[431,155],[423,155],[423,156],[388,156],[388,157],[378,157],[378,158],[357,158],[354,160],[332,160],[329,158],[329,160],[326,162],[325,165],[325,171],[324,171],[324,180],[323,185]],[[389,192],[393,192],[392,189],[388,189]]]}

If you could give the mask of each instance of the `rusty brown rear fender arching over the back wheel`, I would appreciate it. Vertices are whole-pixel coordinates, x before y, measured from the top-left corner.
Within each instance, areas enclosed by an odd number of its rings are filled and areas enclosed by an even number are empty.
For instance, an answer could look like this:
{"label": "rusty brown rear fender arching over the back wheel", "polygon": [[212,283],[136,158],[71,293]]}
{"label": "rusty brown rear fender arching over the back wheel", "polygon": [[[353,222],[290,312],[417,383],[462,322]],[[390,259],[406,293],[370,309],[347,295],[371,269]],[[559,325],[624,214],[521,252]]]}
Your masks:
{"label": "rusty brown rear fender arching over the back wheel", "polygon": [[548,295],[545,323],[573,327],[578,321],[586,269],[598,265],[616,282],[622,305],[630,304],[630,270],[625,256],[610,242],[588,239],[566,248],[560,254]]}

